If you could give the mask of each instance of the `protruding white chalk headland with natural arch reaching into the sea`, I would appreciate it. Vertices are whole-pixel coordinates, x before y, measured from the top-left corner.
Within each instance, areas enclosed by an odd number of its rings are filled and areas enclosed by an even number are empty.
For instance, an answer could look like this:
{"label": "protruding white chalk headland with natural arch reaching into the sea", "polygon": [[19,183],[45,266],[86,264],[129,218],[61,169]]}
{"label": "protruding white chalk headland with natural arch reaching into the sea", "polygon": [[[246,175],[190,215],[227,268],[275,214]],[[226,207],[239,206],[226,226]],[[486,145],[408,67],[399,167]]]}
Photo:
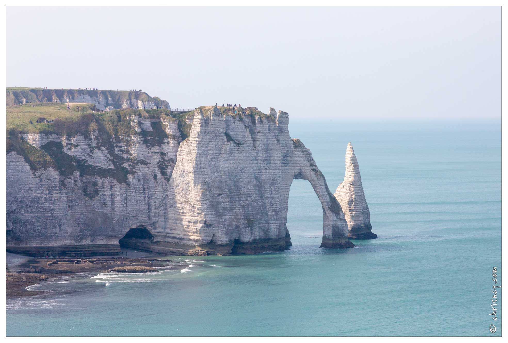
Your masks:
{"label": "protruding white chalk headland with natural arch reaching into the sea", "polygon": [[184,233],[180,242],[188,237],[187,244],[209,254],[286,249],[291,183],[305,179],[323,208],[321,246],[354,246],[337,199],[310,151],[291,139],[288,122],[288,113],[273,109],[265,118],[241,120],[216,107],[206,115],[196,110],[170,182]]}

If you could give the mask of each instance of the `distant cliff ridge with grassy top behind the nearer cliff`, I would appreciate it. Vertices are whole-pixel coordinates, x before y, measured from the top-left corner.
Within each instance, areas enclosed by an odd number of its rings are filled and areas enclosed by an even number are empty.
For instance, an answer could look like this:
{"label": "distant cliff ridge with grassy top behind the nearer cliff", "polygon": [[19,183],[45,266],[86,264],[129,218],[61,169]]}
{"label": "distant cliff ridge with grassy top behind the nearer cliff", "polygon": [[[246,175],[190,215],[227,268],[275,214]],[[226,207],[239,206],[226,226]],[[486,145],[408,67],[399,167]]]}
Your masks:
{"label": "distant cliff ridge with grassy top behind the nearer cliff", "polygon": [[157,97],[150,97],[142,91],[129,90],[90,90],[90,89],[42,89],[7,88],[7,106],[26,103],[87,103],[98,109],[118,108],[165,108],[169,103]]}

